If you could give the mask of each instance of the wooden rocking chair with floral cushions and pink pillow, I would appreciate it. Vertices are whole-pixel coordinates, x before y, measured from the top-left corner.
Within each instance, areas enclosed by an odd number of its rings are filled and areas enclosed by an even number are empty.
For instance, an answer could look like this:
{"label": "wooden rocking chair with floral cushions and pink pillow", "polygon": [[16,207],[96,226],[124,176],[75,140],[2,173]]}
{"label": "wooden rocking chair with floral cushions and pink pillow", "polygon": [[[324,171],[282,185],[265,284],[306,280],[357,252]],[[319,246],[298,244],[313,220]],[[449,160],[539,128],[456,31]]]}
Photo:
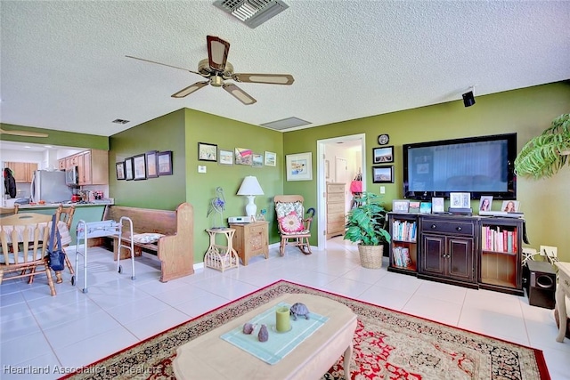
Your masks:
{"label": "wooden rocking chair with floral cushions and pink pillow", "polygon": [[311,238],[314,208],[309,208],[305,216],[305,206],[303,206],[305,198],[300,195],[277,195],[273,200],[281,235],[280,255],[285,255],[287,245],[299,248],[305,255],[311,255],[309,238]]}

